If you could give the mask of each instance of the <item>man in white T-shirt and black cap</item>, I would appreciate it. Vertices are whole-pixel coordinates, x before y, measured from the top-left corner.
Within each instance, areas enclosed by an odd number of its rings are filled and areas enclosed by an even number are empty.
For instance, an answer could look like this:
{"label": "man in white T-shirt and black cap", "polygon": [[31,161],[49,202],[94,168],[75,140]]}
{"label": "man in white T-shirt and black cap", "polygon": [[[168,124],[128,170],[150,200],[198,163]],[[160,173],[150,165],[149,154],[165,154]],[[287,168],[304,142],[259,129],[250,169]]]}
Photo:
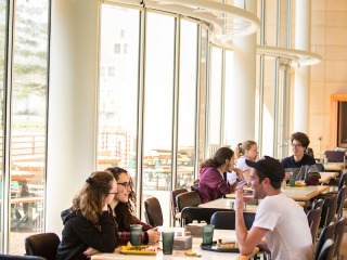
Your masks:
{"label": "man in white T-shirt and black cap", "polygon": [[243,188],[236,191],[235,230],[240,252],[248,255],[260,244],[269,248],[273,260],[312,259],[312,238],[304,208],[281,192],[283,166],[269,156],[258,161],[246,159],[246,164],[252,167],[254,198],[262,200],[247,231],[243,218]]}

